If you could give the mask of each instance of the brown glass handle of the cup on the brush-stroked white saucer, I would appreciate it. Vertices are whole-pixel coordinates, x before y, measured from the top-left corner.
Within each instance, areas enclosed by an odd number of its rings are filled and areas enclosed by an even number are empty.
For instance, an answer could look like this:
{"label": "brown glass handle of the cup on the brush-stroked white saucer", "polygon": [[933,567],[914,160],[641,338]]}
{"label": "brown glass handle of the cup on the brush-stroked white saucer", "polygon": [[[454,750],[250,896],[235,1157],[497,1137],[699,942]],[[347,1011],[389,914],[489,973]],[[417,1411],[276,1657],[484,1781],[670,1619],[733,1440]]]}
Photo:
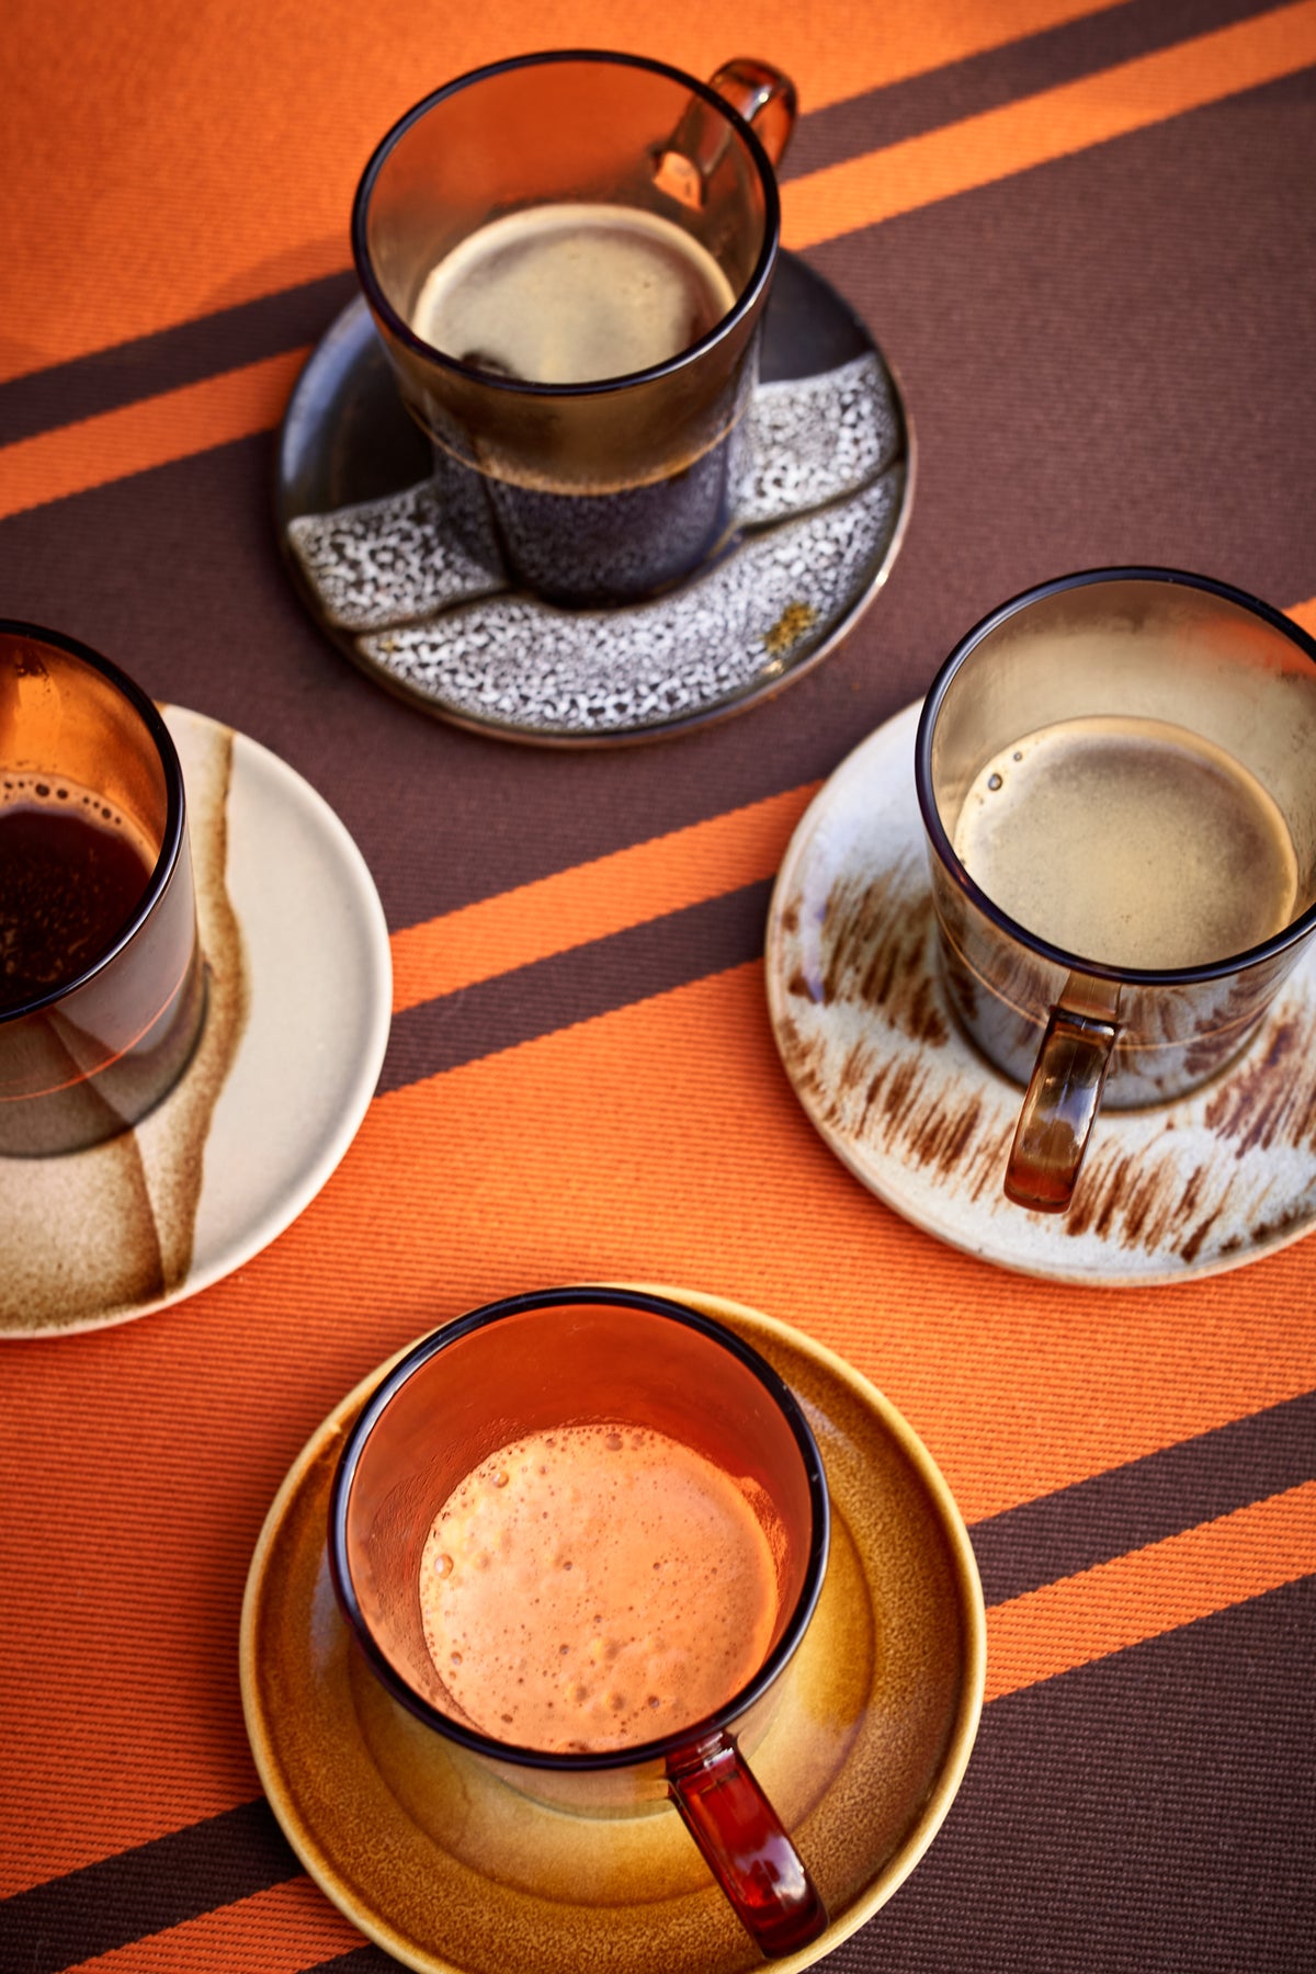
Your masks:
{"label": "brown glass handle of the cup on the brush-stroked white saucer", "polygon": [[1006,1167],[1004,1190],[1016,1206],[1063,1214],[1073,1198],[1115,1036],[1109,1021],[1052,1009]]}

